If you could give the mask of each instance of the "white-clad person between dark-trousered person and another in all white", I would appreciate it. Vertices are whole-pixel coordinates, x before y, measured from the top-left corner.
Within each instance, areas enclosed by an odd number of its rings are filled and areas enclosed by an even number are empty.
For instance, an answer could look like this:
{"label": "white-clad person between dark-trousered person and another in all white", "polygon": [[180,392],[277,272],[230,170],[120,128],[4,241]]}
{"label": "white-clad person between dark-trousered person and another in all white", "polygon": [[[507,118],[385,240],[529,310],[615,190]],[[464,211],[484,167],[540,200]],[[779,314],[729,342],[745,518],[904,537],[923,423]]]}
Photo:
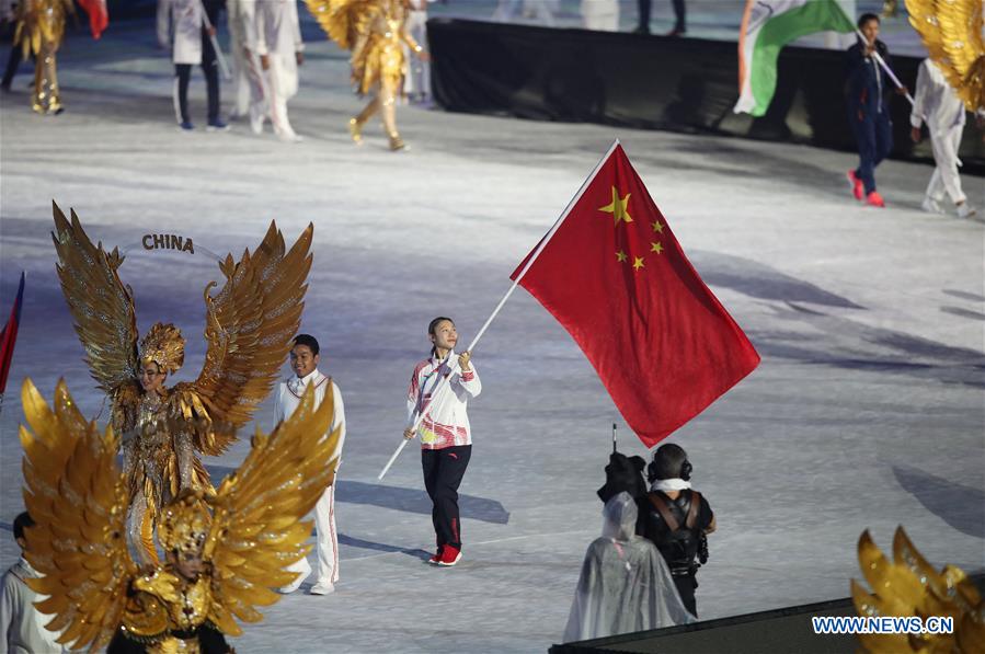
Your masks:
{"label": "white-clad person between dark-trousered person and another in all white", "polygon": [[228,0],[226,7],[236,78],[233,116],[249,116],[250,128],[260,134],[266,115],[266,92],[256,53],[256,0]]}

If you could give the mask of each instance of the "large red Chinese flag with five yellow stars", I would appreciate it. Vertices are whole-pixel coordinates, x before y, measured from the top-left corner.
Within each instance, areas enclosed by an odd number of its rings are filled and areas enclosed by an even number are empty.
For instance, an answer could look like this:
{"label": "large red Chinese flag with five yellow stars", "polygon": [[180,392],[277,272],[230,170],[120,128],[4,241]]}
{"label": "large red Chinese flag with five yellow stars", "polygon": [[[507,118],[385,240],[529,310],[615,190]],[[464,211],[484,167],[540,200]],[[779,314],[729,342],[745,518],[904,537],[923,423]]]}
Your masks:
{"label": "large red Chinese flag with five yellow stars", "polygon": [[519,285],[574,337],[646,447],[759,364],[618,144],[545,240]]}

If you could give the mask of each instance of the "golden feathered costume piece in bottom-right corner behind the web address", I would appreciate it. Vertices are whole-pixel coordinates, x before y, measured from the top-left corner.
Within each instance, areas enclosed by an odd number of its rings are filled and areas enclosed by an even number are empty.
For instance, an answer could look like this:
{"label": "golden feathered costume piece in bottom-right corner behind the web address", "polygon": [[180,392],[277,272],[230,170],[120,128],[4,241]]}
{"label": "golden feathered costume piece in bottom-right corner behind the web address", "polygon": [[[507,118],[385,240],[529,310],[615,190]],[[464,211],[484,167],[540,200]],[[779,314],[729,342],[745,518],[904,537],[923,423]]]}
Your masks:
{"label": "golden feathered costume piece in bottom-right corner behind the web address", "polygon": [[950,617],[953,633],[860,633],[862,647],[877,652],[985,652],[985,603],[965,574],[952,566],[937,572],[913,546],[903,527],[893,538],[893,561],[886,559],[869,531],[858,543],[859,567],[870,594],[851,580],[851,598],[863,618]]}

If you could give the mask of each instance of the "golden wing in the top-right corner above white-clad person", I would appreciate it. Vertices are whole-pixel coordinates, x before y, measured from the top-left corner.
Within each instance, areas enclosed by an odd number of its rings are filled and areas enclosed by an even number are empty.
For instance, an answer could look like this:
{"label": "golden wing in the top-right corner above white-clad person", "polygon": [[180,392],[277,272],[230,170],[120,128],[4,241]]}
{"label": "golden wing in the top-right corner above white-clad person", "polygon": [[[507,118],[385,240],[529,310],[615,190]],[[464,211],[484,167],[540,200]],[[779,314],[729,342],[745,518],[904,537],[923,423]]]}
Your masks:
{"label": "golden wing in the top-right corner above white-clad person", "polygon": [[970,112],[985,110],[982,0],[906,0],[909,23]]}

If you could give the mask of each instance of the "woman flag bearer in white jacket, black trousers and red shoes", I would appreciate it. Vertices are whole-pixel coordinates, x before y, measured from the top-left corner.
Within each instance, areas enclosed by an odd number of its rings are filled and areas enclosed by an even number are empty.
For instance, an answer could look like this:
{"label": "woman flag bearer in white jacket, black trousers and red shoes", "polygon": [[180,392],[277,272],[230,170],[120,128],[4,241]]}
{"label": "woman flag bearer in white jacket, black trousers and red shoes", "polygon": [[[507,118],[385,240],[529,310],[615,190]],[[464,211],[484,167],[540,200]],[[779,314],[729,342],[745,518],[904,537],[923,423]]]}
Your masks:
{"label": "woman flag bearer in white jacket, black trousers and red shoes", "polygon": [[[472,455],[468,402],[482,392],[482,382],[471,364],[471,354],[455,354],[458,332],[450,318],[435,318],[427,333],[434,346],[431,356],[419,363],[411,376],[403,437],[421,437],[424,487],[434,503],[431,519],[437,544],[431,563],[449,566],[461,559],[458,486]],[[447,388],[438,389],[442,380]],[[424,418],[415,431],[413,425],[420,414]]]}

